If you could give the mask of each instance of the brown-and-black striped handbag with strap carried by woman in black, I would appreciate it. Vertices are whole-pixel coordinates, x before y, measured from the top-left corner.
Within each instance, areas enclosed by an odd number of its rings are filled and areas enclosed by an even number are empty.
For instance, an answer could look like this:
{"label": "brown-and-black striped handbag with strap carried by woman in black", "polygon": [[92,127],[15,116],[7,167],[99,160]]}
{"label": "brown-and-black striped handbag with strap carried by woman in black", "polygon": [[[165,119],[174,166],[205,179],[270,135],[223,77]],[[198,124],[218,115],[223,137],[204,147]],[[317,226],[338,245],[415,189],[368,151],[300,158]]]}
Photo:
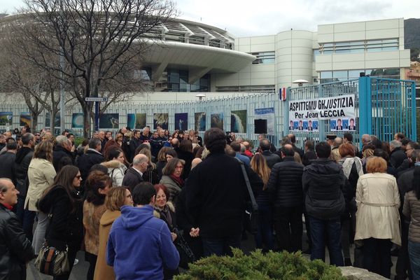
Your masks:
{"label": "brown-and-black striped handbag with strap carried by woman in black", "polygon": [[[48,219],[50,220],[50,225],[45,232],[47,235],[48,230],[51,227],[52,220],[52,207],[50,213],[48,214]],[[42,274],[47,274],[51,276],[59,276],[66,274],[70,271],[69,265],[69,247],[62,244],[62,241],[47,241],[45,240],[41,250],[38,253],[38,257],[35,260],[35,267]],[[57,246],[60,245],[60,246]]]}

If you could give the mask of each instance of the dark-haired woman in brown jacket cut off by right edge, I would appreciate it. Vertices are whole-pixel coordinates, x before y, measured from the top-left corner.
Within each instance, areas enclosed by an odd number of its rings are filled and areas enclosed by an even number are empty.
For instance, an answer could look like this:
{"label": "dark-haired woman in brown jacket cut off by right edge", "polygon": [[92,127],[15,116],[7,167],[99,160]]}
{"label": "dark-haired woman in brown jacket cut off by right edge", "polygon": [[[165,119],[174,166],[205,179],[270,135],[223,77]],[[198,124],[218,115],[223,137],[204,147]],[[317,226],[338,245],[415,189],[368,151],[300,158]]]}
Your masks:
{"label": "dark-haired woman in brown jacket cut off by right edge", "polygon": [[413,279],[420,279],[420,165],[414,167],[413,189],[405,193],[402,214],[410,219],[408,254]]}

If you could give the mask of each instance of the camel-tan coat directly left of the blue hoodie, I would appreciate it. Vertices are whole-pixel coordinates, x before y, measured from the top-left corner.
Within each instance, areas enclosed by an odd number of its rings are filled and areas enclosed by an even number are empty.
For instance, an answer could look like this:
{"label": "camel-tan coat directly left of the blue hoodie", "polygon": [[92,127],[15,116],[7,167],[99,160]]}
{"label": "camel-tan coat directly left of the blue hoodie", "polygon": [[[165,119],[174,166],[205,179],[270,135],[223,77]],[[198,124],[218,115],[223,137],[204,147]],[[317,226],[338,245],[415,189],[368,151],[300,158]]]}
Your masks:
{"label": "camel-tan coat directly left of the blue hoodie", "polygon": [[111,231],[111,225],[116,218],[121,216],[120,211],[106,210],[102,215],[99,223],[99,251],[96,267],[94,267],[94,280],[114,280],[116,274],[113,271],[113,267],[106,264],[106,246],[108,245],[109,232]]}

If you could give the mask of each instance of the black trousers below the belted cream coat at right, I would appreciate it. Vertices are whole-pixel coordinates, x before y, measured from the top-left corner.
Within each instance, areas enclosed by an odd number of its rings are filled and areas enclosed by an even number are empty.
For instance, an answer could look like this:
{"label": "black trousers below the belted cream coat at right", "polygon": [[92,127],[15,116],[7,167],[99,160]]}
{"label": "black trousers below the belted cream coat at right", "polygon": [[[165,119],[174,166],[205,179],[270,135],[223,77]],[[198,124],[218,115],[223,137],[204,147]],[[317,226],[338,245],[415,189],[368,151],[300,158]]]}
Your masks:
{"label": "black trousers below the belted cream coat at right", "polygon": [[391,276],[391,240],[363,239],[363,268],[386,278]]}

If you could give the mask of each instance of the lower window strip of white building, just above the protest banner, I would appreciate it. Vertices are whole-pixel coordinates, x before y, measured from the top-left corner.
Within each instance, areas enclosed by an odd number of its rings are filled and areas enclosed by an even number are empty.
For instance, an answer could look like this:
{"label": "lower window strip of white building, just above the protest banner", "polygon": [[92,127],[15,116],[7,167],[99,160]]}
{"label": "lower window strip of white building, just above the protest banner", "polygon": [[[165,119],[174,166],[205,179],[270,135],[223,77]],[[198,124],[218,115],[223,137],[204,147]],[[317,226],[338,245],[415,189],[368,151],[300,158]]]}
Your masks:
{"label": "lower window strip of white building, just above the protest banner", "polygon": [[400,78],[399,68],[388,68],[388,69],[358,69],[358,70],[340,70],[340,71],[321,71],[320,83],[331,83],[338,82],[340,80],[349,80],[358,78],[360,73],[364,72],[365,75],[380,77],[380,78]]}

